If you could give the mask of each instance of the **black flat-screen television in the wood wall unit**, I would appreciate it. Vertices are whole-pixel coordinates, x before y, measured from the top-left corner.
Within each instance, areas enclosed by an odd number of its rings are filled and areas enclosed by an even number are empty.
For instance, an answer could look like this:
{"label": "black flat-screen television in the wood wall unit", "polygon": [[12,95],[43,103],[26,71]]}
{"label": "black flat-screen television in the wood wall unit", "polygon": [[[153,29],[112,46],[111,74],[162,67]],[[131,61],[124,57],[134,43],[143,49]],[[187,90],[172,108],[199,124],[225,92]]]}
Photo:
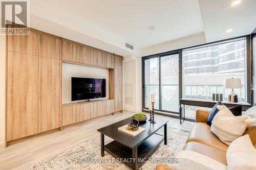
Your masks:
{"label": "black flat-screen television in the wood wall unit", "polygon": [[106,97],[106,79],[71,78],[71,101]]}

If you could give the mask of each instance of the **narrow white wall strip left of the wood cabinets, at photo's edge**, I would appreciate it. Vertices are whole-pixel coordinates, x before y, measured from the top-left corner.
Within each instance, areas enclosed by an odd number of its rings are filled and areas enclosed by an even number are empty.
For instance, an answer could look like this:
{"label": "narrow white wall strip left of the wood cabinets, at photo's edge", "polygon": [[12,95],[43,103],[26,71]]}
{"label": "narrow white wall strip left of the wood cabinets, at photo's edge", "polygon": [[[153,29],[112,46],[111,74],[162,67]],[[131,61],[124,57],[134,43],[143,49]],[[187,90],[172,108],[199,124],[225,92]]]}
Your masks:
{"label": "narrow white wall strip left of the wood cabinets, at photo's edge", "polygon": [[6,36],[0,35],[0,147],[5,143]]}

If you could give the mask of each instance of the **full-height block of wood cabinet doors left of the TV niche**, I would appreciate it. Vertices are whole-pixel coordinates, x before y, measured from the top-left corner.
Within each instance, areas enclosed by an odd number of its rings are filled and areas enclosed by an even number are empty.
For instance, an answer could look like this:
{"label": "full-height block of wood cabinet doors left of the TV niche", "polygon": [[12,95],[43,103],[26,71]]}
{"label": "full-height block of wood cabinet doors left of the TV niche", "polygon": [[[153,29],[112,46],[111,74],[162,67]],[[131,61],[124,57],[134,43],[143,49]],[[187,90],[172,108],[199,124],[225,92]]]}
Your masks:
{"label": "full-height block of wood cabinet doors left of the TV niche", "polygon": [[31,30],[7,41],[7,141],[61,127],[60,38]]}

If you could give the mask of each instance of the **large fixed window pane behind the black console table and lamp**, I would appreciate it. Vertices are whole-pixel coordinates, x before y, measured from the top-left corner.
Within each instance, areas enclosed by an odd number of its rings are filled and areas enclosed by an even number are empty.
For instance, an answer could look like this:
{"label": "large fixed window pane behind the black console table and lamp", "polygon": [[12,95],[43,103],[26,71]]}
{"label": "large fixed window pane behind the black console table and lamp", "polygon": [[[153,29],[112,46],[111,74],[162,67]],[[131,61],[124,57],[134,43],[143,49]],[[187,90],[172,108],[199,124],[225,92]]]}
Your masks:
{"label": "large fixed window pane behind the black console table and lamp", "polygon": [[[246,102],[246,39],[238,39],[182,50],[183,98],[212,100],[212,93],[223,94],[228,101],[231,89],[224,88],[226,79],[239,78],[241,89],[234,89],[240,102]],[[186,106],[188,118],[198,109]]]}

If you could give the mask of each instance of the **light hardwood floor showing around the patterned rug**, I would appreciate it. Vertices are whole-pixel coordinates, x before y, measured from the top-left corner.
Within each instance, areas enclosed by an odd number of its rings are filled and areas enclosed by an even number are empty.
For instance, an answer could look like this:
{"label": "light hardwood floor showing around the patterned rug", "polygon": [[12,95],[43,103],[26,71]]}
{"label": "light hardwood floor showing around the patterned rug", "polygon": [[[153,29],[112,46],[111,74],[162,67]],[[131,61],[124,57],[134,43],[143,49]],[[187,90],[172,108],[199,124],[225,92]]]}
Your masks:
{"label": "light hardwood floor showing around the patterned rug", "polygon": [[[100,134],[97,129],[131,117],[133,114],[134,112],[123,111],[123,113],[119,112],[115,115],[101,116],[63,131],[36,137],[10,145],[8,148],[0,149],[0,169],[29,169],[32,164],[40,160],[68,150],[79,143],[99,137]],[[190,131],[195,124],[184,121],[180,125],[178,118],[163,115],[156,116],[167,118],[169,120],[167,126],[169,127],[187,131]]]}

